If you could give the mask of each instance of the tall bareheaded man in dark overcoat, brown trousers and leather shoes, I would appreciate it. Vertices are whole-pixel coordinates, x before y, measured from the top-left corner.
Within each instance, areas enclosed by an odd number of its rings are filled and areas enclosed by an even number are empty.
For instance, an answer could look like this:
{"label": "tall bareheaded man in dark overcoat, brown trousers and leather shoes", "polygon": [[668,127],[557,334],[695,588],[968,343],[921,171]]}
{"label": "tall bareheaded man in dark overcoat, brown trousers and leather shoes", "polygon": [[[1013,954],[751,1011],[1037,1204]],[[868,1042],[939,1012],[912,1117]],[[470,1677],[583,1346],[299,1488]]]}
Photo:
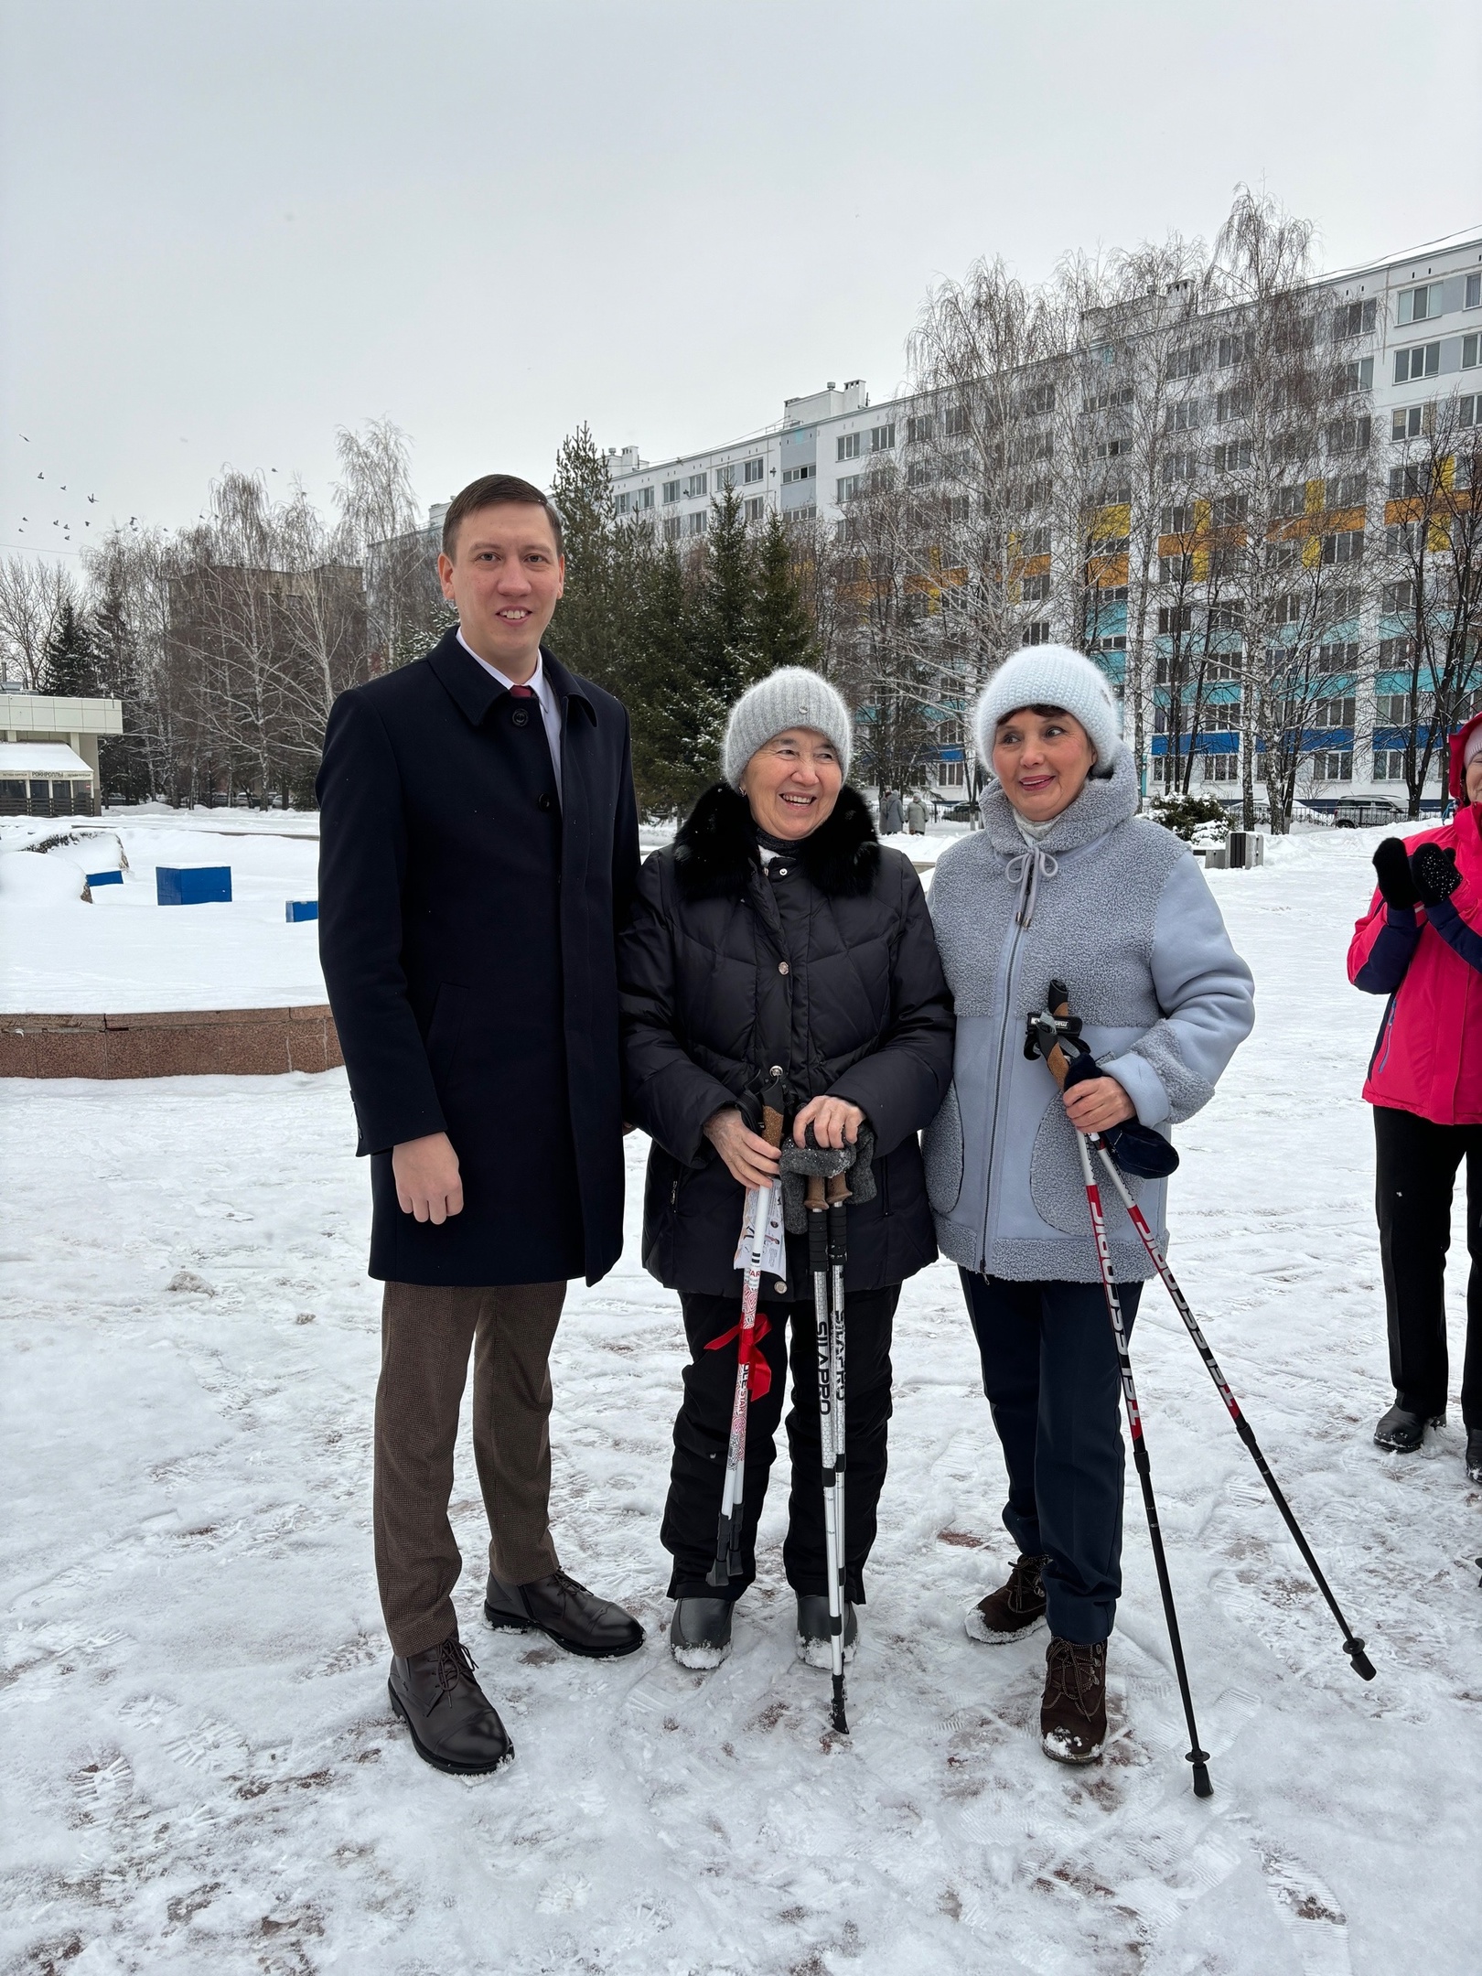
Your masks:
{"label": "tall bareheaded man in dark overcoat, brown trousers and leather shoes", "polygon": [[512,474],[451,502],[458,626],[342,694],[324,737],[320,956],[385,1282],[375,1573],[391,1701],[445,1770],[510,1757],[458,1640],[449,1523],[474,1356],[490,1523],[484,1616],[577,1654],[642,1628],[561,1569],[549,1533],[549,1348],[569,1276],[622,1247],[617,927],[638,869],[628,719],[541,650],[561,520]]}

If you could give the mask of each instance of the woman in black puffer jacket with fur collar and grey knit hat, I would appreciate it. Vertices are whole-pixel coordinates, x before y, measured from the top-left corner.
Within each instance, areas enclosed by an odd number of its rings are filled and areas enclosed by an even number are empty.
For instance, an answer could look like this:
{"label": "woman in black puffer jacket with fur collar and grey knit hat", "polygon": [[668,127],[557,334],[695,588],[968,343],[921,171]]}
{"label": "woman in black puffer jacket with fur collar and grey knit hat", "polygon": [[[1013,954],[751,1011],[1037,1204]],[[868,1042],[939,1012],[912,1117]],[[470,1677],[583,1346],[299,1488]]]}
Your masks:
{"label": "woman in black puffer jacket with fur collar and grey knit hat", "polygon": [[[727,781],[648,860],[622,937],[624,1111],[654,1140],[644,1263],[680,1292],[692,1363],[674,1423],[662,1541],[674,1555],[670,1644],[686,1666],[729,1652],[731,1606],[755,1577],[792,1322],[792,1496],[782,1563],[798,1652],[828,1664],[818,1367],[806,1241],[786,1282],[763,1280],[743,1498],[745,1571],[707,1585],[735,1387],[745,1190],[777,1176],[757,1093],[781,1073],[796,1140],[875,1142],[873,1201],[850,1209],[846,1273],[846,1646],[885,1480],[889,1340],[901,1282],[937,1257],[917,1132],[952,1067],[952,1012],[921,881],[881,850],[844,786],[850,715],[812,672],[786,668],[733,709]],[[767,1294],[771,1292],[771,1294]]]}

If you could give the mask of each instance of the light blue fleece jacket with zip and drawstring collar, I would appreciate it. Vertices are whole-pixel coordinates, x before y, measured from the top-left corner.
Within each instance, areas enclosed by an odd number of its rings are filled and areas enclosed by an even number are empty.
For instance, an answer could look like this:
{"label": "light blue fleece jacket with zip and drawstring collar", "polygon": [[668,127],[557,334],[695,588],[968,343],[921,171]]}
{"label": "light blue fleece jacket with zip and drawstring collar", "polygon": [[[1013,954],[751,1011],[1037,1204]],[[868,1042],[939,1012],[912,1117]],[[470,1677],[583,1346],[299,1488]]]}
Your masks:
{"label": "light blue fleece jacket with zip and drawstring collar", "polygon": [[[1024,1055],[1026,1018],[1051,980],[1071,990],[1097,1061],[1168,1130],[1213,1097],[1255,1022],[1251,970],[1188,846],[1136,816],[1136,779],[1118,749],[1037,842],[1008,796],[984,792],[984,828],[937,862],[931,919],[956,1002],[952,1087],[927,1128],[937,1241],[990,1276],[1095,1282],[1081,1162],[1055,1079]],[[1099,1174],[1105,1182],[1105,1174]],[[1168,1241],[1168,1182],[1128,1182]],[[1118,1276],[1154,1275],[1111,1186],[1107,1233]]]}

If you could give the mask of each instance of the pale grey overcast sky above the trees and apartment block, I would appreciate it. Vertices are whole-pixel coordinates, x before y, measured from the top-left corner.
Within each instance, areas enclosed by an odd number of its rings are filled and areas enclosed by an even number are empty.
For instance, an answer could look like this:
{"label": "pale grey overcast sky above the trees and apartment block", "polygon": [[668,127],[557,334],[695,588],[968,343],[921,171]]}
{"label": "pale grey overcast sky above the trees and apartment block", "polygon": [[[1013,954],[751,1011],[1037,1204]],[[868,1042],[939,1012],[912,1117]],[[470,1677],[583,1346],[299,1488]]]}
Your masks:
{"label": "pale grey overcast sky above the trees and apartment block", "polygon": [[431,502],[547,480],[581,419],[664,458],[828,377],[881,399],[933,281],[1209,235],[1239,180],[1328,267],[1482,221],[1476,0],[0,22],[0,547],[194,522],[225,464],[328,498],[334,429],[368,417]]}

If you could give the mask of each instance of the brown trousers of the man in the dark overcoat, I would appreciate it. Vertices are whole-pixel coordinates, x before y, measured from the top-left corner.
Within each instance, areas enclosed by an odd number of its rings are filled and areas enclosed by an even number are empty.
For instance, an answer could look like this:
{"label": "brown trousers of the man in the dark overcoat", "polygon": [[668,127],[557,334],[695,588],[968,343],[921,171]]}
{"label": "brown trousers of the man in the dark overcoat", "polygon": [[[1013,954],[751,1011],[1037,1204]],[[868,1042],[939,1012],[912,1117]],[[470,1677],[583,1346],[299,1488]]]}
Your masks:
{"label": "brown trousers of the man in the dark overcoat", "polygon": [[387,1282],[375,1387],[375,1579],[393,1654],[458,1630],[449,1522],[458,1407],[474,1359],[474,1462],[488,1565],[506,1585],[559,1569],[549,1531],[551,1340],[565,1282]]}

